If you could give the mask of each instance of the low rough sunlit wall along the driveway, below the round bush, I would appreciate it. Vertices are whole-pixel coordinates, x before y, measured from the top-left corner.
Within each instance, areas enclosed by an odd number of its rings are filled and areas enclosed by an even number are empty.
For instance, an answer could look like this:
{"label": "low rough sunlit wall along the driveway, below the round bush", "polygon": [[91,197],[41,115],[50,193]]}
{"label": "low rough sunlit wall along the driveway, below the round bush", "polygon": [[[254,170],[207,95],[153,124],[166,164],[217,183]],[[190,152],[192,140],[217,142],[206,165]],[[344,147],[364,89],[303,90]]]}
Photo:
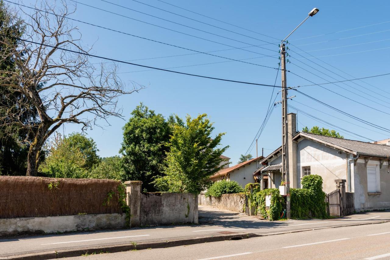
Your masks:
{"label": "low rough sunlit wall along the driveway, below the round bush", "polygon": [[244,212],[245,194],[222,194],[220,198],[207,197],[204,194],[198,196],[199,205],[209,205],[217,209],[225,209],[233,212]]}

